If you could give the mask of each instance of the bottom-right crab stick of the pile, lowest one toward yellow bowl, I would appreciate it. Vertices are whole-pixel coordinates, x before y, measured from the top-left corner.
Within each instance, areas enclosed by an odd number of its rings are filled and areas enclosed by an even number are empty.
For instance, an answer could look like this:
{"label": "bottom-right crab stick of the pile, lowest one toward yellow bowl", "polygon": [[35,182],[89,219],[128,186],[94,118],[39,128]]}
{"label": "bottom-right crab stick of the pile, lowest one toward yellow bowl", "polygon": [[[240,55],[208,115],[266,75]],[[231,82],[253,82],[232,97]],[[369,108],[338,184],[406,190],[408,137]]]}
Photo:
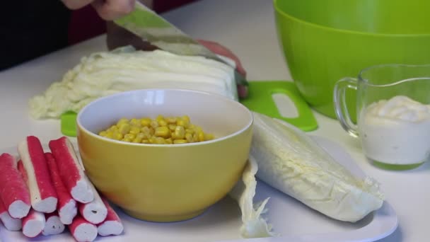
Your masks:
{"label": "bottom-right crab stick of the pile, lowest one toward yellow bowl", "polygon": [[124,226],[122,225],[121,219],[115,212],[108,200],[103,198],[106,208],[108,209],[108,216],[105,221],[97,225],[98,234],[100,236],[110,236],[110,235],[120,235],[124,231]]}

